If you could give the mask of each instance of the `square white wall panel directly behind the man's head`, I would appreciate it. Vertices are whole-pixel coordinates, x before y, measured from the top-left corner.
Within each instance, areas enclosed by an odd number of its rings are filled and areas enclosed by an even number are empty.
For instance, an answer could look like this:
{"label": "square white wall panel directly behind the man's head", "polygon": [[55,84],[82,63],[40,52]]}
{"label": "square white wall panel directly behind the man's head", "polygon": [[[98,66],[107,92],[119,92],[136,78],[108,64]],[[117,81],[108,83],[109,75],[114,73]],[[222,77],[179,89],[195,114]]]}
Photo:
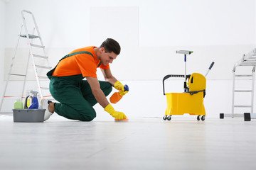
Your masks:
{"label": "square white wall panel directly behind the man's head", "polygon": [[100,7],[90,8],[90,42],[100,45],[107,38],[114,38],[122,46],[122,53],[138,47],[139,8]]}

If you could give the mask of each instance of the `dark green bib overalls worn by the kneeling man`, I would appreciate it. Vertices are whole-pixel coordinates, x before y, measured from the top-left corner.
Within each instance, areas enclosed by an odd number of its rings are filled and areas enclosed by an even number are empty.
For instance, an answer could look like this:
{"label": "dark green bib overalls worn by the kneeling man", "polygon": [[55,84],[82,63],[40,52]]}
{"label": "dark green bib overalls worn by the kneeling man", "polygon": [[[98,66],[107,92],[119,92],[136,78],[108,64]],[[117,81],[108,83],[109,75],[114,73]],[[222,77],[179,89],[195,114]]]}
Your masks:
{"label": "dark green bib overalls worn by the kneeling man", "polygon": [[[86,51],[74,52],[70,55],[66,55],[61,60],[81,53],[92,55],[90,52]],[[100,64],[97,67],[99,67]],[[50,79],[50,94],[56,101],[60,102],[55,103],[55,113],[73,120],[93,120],[96,117],[96,112],[92,106],[94,106],[97,101],[95,96],[92,94],[92,90],[88,82],[86,80],[82,80],[85,77],[82,77],[82,74],[67,77],[55,77],[52,76],[55,68],[47,73],[47,77]],[[109,95],[112,91],[112,85],[107,81],[99,82],[100,89],[102,89],[105,96]]]}

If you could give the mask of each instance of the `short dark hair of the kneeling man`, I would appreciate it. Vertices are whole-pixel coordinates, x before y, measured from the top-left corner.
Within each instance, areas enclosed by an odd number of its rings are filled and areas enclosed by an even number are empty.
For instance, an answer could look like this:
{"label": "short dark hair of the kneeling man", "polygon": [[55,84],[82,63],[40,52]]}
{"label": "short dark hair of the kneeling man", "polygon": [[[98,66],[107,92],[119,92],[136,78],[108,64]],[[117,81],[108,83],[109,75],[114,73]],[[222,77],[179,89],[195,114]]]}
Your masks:
{"label": "short dark hair of the kneeling man", "polygon": [[104,47],[105,52],[114,52],[114,54],[119,55],[121,51],[121,47],[119,43],[112,39],[112,38],[107,38],[104,42],[102,42],[102,45],[100,45],[100,48]]}

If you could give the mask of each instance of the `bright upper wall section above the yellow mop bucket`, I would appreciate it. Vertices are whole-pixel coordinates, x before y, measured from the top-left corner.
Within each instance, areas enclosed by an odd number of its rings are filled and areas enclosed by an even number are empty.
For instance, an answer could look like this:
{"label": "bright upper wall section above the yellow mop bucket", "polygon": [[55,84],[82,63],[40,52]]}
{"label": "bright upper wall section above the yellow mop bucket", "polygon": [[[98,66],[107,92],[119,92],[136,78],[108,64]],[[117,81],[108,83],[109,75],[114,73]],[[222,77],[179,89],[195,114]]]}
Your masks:
{"label": "bright upper wall section above the yellow mop bucket", "polygon": [[255,1],[149,1],[139,8],[139,45],[254,43]]}

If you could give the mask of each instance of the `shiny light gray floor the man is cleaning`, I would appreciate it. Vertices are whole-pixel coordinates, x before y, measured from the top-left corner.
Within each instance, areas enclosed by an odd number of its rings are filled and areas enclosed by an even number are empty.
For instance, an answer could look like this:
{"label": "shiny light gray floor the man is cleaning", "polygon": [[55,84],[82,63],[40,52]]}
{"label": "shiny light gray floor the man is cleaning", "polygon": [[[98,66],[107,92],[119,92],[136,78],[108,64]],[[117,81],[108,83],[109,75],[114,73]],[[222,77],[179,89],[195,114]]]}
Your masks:
{"label": "shiny light gray floor the man is cleaning", "polygon": [[256,120],[14,123],[0,115],[0,169],[256,169]]}

